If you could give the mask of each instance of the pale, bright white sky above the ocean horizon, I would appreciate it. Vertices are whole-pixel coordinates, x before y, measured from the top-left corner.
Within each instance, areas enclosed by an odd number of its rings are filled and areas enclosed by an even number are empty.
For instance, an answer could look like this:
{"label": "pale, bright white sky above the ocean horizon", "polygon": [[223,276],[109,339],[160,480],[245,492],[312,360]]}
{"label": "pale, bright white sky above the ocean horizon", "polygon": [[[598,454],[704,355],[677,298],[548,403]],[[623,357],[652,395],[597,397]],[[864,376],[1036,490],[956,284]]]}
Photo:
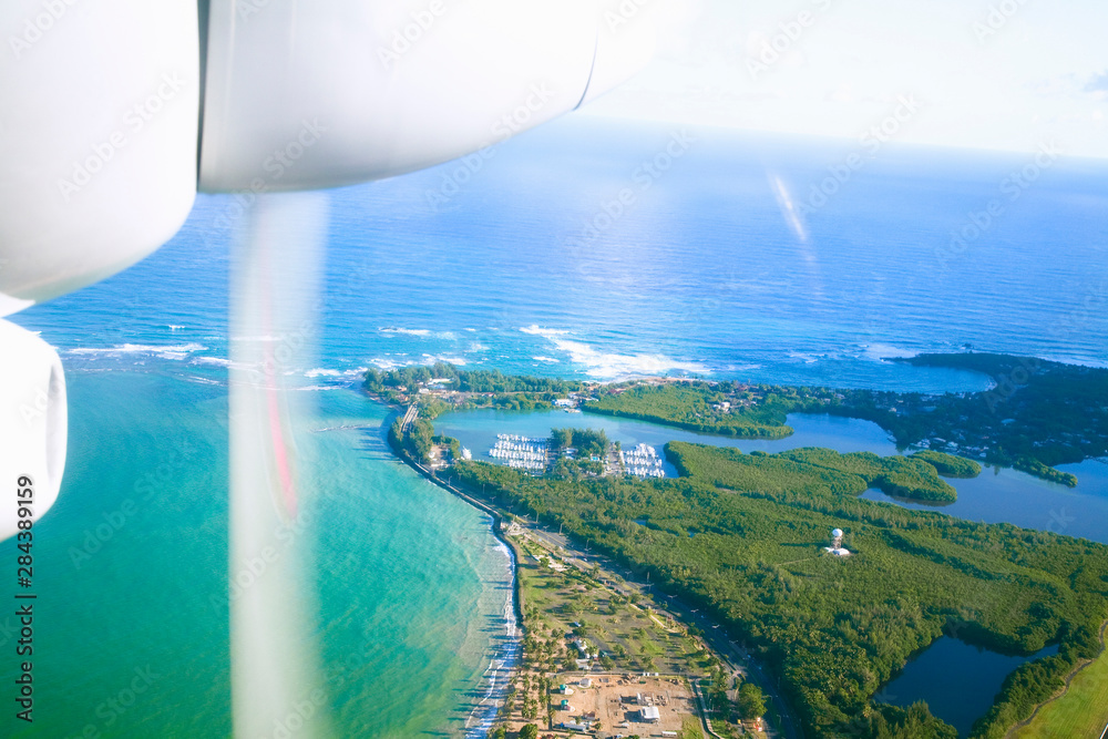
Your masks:
{"label": "pale, bright white sky above the ocean horizon", "polygon": [[1108,158],[1106,0],[625,1],[658,52],[585,114]]}

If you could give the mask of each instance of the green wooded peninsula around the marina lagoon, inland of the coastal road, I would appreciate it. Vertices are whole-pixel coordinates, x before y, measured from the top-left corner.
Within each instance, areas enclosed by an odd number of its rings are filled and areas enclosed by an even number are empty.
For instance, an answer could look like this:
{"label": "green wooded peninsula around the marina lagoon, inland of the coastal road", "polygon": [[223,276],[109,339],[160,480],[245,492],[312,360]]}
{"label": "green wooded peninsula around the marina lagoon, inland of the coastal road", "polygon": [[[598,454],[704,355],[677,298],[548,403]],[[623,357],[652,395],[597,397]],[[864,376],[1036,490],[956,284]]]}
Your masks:
{"label": "green wooded peninsula around the marina lagoon, inland of the coastal road", "polygon": [[[366,389],[409,404],[390,431],[402,458],[435,469],[486,505],[587,543],[708,614],[780,682],[782,718],[794,716],[806,735],[953,738],[952,727],[922,704],[904,709],[874,700],[911,655],[943,634],[1018,654],[1057,645],[1053,656],[1008,677],[972,735],[1002,737],[1101,651],[1108,546],[858,495],[874,485],[942,500],[950,485],[941,476],[981,470],[947,451],[1004,459],[1068,483],[1049,464],[1102,453],[1108,396],[1098,388],[1108,372],[952,357],[963,356],[917,360],[987,369],[995,387],[936,397],[701,380],[598,386],[435,366],[370,372]],[[1026,373],[1012,379],[1019,367]],[[435,433],[438,414],[472,407],[566,407],[763,438],[791,433],[788,412],[827,412],[878,421],[916,451],[745,454],[670,442],[664,453],[680,476],[657,479],[614,463],[601,432],[553,430],[544,464],[513,469],[465,459],[455,440]],[[592,453],[571,456],[574,444],[591,444]],[[841,550],[825,546],[832,528]],[[586,596],[578,607],[599,615],[606,603]]]}

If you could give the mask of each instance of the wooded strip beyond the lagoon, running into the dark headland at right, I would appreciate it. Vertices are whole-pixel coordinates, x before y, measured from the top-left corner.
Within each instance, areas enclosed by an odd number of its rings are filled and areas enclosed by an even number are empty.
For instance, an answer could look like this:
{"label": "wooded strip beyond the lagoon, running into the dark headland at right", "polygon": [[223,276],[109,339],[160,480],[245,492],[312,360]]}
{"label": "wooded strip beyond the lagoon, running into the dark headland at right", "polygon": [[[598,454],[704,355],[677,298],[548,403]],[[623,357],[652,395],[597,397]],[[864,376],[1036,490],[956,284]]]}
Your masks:
{"label": "wooded strip beyond the lagoon, running into the dark headland at right", "polygon": [[[1055,465],[1108,455],[1106,369],[989,353],[921,355],[900,361],[983,372],[996,384],[983,392],[936,396],[699,380],[624,383],[596,390],[599,398],[583,409],[769,439],[792,433],[786,425],[788,413],[833,413],[878,423],[899,447],[927,442],[933,449],[973,454],[1070,487],[1077,478]],[[962,470],[966,462],[951,469]]]}

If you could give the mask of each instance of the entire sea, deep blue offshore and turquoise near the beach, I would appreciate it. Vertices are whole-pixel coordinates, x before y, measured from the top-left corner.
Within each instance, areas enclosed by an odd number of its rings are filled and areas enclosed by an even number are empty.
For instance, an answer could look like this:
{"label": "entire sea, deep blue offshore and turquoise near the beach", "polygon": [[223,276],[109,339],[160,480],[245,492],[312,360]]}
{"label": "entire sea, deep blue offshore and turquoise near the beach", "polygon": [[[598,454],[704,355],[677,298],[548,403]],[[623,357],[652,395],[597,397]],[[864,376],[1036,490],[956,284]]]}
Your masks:
{"label": "entire sea, deep blue offshore and turquoise near the beach", "polygon": [[[366,367],[945,391],[987,381],[885,359],[972,346],[1108,366],[1108,163],[1063,158],[1010,199],[1033,156],[889,145],[813,196],[851,152],[570,117],[329,194],[320,359],[295,378],[316,398],[308,430],[337,429],[310,460],[336,493],[318,622],[325,664],[373,654],[329,686],[337,730],[462,736],[511,644],[505,552],[485,516],[390,456],[388,411],[353,388]],[[974,225],[993,199],[1002,215]],[[58,347],[71,417],[62,496],[37,525],[42,719],[17,736],[229,735],[211,603],[226,587],[236,214],[234,196],[202,195],[146,260],[13,317]],[[147,665],[163,677],[141,700],[102,708]]]}

